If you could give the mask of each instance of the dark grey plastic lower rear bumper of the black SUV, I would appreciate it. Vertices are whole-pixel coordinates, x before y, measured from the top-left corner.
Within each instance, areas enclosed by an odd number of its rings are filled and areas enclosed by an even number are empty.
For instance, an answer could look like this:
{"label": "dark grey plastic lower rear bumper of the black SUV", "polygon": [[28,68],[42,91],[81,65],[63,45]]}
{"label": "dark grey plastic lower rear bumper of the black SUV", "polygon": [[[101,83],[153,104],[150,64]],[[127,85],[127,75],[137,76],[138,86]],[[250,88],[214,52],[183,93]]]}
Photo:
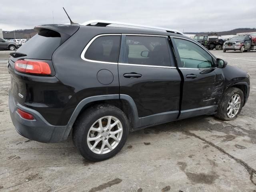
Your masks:
{"label": "dark grey plastic lower rear bumper of the black SUV", "polygon": [[[17,108],[34,116],[34,120],[26,120],[17,112]],[[62,142],[68,138],[73,123],[66,126],[54,126],[49,124],[43,116],[35,110],[15,103],[12,93],[9,93],[9,109],[12,123],[17,132],[31,140],[44,143]]]}

